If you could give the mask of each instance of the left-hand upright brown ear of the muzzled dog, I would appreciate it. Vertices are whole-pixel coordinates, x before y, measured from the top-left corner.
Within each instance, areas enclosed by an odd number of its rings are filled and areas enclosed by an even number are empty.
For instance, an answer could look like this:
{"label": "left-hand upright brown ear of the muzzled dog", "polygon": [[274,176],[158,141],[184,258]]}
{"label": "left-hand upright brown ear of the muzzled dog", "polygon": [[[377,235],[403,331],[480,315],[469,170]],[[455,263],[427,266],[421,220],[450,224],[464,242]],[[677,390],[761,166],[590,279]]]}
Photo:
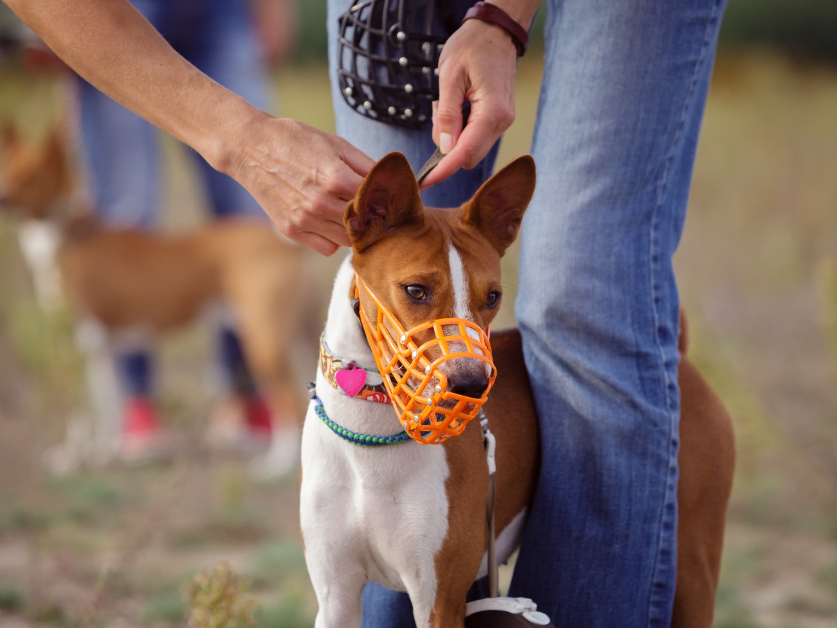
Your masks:
{"label": "left-hand upright brown ear of the muzzled dog", "polygon": [[407,157],[391,152],[372,167],[347,205],[343,222],[358,252],[393,229],[424,222],[419,185]]}

